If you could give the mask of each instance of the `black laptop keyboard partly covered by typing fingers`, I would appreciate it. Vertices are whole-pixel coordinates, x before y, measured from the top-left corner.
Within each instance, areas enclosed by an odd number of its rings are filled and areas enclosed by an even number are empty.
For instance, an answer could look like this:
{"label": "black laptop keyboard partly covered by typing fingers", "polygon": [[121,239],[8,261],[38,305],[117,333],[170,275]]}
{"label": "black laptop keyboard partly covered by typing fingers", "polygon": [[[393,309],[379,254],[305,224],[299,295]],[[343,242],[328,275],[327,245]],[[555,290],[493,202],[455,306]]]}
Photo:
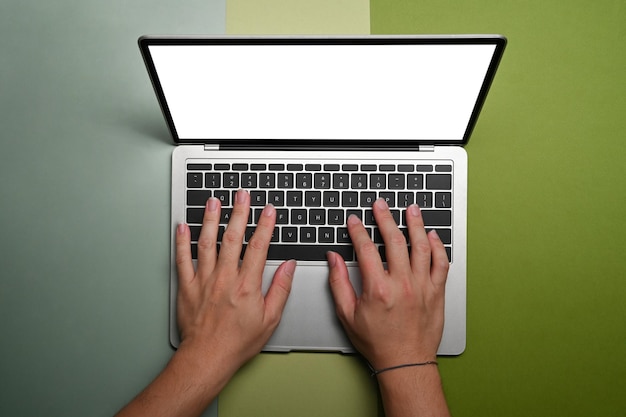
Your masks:
{"label": "black laptop keyboard partly covered by typing fingers", "polygon": [[[221,201],[218,242],[232,213],[234,194],[248,190],[251,210],[242,257],[263,207],[276,207],[276,226],[268,260],[324,261],[329,250],[355,261],[346,220],[363,221],[385,261],[383,240],[372,204],[384,198],[400,230],[407,237],[404,211],[417,203],[427,230],[435,229],[452,262],[453,165],[437,163],[329,164],[314,161],[266,163],[188,161],[186,222],[191,229],[192,256],[197,259],[204,206],[209,197]],[[218,244],[219,250],[219,244]]]}

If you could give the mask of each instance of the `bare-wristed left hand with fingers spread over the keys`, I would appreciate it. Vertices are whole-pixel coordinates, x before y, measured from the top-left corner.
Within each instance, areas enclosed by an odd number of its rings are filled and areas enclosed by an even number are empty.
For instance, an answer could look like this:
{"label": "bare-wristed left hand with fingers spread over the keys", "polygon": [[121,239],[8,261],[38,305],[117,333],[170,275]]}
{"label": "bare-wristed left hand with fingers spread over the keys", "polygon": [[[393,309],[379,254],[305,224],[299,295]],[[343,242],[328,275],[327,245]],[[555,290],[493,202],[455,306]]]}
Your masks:
{"label": "bare-wristed left hand with fingers spread over the keys", "polygon": [[191,234],[181,224],[176,233],[178,268],[179,350],[193,346],[234,372],[259,353],[282,315],[291,290],[295,261],[284,262],[274,274],[265,297],[261,280],[276,210],[265,207],[240,264],[242,242],[250,212],[250,195],[239,190],[219,256],[217,234],[221,205],[207,201],[200,237],[198,263],[191,258]]}

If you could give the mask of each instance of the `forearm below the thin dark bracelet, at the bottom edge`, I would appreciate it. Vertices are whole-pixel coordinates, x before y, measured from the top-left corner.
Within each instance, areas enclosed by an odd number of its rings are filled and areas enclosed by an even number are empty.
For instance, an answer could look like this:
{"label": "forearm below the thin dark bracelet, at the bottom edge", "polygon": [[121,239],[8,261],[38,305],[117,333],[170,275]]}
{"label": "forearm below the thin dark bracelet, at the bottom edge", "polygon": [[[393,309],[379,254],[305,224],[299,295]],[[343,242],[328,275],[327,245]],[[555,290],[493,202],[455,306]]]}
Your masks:
{"label": "forearm below the thin dark bracelet, at the bottom edge", "polygon": [[450,416],[437,366],[383,372],[378,384],[386,417]]}

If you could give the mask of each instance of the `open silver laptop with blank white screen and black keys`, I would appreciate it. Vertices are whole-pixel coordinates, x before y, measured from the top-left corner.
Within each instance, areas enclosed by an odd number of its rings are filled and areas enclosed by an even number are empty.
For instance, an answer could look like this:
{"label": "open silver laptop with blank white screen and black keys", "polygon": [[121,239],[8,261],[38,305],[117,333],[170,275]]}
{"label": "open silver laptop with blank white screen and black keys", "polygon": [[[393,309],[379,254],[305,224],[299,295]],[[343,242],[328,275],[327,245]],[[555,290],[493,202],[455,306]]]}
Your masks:
{"label": "open silver laptop with blank white screen and black keys", "polygon": [[263,275],[297,259],[292,292],[265,351],[353,352],[336,315],[326,251],[341,253],[360,291],[346,219],[363,220],[385,260],[371,213],[385,198],[406,233],[418,203],[450,260],[438,353],[466,345],[467,154],[506,45],[498,35],[154,37],[139,39],[177,145],[172,156],[170,342],[176,327],[176,226],[197,255],[204,204],[252,200],[244,241],[272,203],[277,224]]}

